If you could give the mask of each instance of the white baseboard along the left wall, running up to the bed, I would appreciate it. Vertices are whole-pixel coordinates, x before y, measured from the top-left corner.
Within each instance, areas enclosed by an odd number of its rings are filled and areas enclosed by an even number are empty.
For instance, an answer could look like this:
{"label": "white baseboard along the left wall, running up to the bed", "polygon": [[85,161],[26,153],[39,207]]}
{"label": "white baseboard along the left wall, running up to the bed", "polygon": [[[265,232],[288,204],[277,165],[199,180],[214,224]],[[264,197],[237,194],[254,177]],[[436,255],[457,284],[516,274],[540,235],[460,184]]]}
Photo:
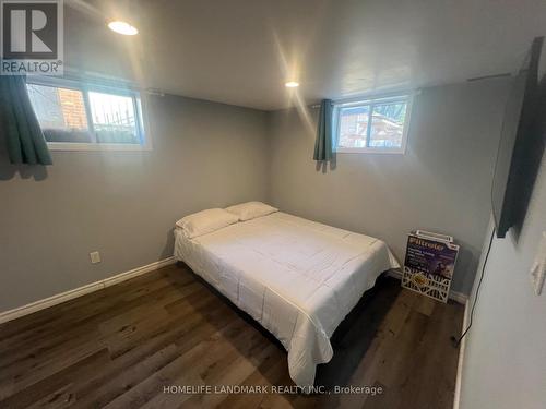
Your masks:
{"label": "white baseboard along the left wall, running up to the bed", "polygon": [[32,314],[33,312],[39,311],[47,309],[52,305],[60,304],[61,302],[72,300],[78,297],[85,296],[90,292],[102,290],[103,288],[114,286],[115,284],[126,281],[128,279],[138,277],[142,274],[154,272],[156,269],[159,269],[162,267],[165,267],[169,264],[175,264],[176,260],[175,257],[168,257],[164,260],[159,260],[158,262],[147,264],[142,267],[136,267],[133,268],[129,272],[124,272],[121,274],[117,274],[112,277],[108,277],[92,284],[87,284],[85,286],[74,288],[73,290],[68,290],[58,294],[55,294],[52,297],[45,298],[43,300],[38,300],[35,302],[31,302],[29,304],[19,306],[13,310],[8,310],[4,312],[0,313],[0,324],[7,323],[8,321],[12,321],[15,318],[19,318],[24,315]]}

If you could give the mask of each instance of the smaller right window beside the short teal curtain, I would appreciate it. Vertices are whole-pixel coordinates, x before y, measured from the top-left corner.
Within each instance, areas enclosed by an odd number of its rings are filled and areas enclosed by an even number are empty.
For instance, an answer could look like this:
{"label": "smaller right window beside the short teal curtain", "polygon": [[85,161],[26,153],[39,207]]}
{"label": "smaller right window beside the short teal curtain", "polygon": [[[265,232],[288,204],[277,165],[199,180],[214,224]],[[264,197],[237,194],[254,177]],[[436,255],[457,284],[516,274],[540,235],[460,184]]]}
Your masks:
{"label": "smaller right window beside the short teal curtain", "polygon": [[336,152],[403,154],[410,110],[410,95],[337,104],[334,109]]}

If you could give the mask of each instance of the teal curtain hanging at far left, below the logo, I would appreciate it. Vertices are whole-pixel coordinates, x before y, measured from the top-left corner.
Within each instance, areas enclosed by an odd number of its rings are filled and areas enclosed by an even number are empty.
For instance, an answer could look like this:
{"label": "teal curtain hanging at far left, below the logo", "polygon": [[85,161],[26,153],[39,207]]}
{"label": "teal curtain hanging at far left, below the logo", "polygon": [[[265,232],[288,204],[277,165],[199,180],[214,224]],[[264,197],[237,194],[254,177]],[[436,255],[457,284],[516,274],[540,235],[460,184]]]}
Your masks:
{"label": "teal curtain hanging at far left, below the logo", "polygon": [[0,75],[0,133],[12,164],[52,165],[24,76]]}

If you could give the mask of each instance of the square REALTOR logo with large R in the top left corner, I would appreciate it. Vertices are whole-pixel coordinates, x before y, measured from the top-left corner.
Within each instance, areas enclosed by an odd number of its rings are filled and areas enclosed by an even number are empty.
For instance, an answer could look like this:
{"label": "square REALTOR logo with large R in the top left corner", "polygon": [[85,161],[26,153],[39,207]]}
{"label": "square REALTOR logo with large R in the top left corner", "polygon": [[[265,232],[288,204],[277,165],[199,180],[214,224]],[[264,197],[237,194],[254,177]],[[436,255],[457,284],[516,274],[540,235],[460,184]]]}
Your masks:
{"label": "square REALTOR logo with large R in the top left corner", "polygon": [[62,75],[62,0],[0,0],[3,75]]}

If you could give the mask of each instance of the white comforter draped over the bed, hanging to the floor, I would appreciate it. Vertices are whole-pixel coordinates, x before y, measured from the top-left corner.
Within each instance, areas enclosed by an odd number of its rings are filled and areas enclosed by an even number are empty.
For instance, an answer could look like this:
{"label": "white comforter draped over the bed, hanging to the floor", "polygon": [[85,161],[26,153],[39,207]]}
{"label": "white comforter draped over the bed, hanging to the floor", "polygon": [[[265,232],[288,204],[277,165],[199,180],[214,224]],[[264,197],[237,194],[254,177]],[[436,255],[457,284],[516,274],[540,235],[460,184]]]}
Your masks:
{"label": "white comforter draped over the bed, hanging to the floor", "polygon": [[400,267],[378,239],[281,212],[192,240],[176,229],[175,238],[177,260],[283,344],[301,387],[332,358],[330,337],[363,293]]}

